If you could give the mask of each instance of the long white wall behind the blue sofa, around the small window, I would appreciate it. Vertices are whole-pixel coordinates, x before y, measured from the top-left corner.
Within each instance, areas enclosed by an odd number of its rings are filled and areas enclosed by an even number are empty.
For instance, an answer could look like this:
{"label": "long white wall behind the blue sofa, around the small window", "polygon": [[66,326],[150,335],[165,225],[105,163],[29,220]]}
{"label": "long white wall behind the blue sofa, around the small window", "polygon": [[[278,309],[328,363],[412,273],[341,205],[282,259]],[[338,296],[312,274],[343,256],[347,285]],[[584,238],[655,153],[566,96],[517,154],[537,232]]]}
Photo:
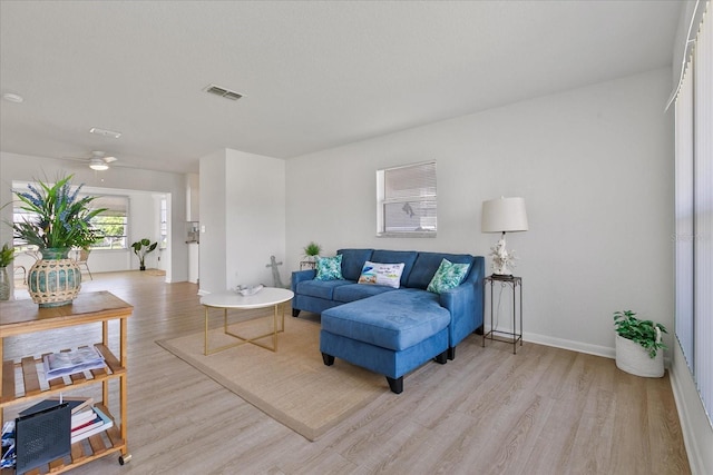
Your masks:
{"label": "long white wall behind the blue sofa, around the small window", "polygon": [[[522,196],[526,339],[613,356],[615,310],[673,327],[670,91],[665,68],[287,160],[291,269],[310,240],[487,255],[482,201]],[[375,237],[375,170],[430,159],[438,237]]]}

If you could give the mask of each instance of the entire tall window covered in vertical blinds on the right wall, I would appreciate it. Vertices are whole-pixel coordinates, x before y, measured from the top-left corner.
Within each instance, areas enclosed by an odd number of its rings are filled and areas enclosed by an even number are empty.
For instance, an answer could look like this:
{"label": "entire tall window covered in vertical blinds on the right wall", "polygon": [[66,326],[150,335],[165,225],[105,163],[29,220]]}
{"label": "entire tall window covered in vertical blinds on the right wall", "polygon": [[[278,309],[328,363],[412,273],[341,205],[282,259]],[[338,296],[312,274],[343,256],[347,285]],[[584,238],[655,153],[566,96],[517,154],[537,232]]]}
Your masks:
{"label": "entire tall window covered in vertical blinds on the right wall", "polygon": [[676,97],[675,331],[713,425],[713,26],[707,7]]}

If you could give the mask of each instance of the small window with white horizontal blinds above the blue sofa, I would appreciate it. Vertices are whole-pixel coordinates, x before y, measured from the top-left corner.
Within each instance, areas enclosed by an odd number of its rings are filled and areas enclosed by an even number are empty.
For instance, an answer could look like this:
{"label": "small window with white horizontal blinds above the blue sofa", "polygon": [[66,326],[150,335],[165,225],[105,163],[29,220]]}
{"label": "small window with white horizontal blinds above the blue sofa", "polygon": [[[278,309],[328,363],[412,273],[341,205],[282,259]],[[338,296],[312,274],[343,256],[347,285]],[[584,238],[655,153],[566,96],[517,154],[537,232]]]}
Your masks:
{"label": "small window with white horizontal blinds above the blue sofa", "polygon": [[436,161],[378,170],[377,234],[436,236]]}

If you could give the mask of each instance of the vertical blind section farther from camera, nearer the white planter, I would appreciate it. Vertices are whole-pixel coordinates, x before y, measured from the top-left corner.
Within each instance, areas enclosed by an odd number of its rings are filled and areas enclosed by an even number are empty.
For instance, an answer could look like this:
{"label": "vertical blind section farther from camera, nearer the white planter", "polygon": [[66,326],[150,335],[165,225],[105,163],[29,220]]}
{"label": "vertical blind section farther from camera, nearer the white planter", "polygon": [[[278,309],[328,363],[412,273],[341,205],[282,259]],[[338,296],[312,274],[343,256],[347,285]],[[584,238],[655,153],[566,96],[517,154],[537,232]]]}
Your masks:
{"label": "vertical blind section farther from camera, nearer the white planter", "polygon": [[693,75],[687,70],[676,99],[675,334],[693,372]]}

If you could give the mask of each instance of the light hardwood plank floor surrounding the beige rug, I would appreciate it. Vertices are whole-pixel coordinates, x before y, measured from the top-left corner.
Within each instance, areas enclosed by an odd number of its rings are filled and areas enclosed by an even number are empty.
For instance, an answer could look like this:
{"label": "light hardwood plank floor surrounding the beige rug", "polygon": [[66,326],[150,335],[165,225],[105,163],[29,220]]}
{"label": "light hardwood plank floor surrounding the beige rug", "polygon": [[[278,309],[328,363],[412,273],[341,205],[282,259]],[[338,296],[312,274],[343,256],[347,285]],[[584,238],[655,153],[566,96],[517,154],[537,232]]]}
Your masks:
{"label": "light hardwood plank floor surrounding the beige rug", "polygon": [[[384,379],[374,404],[311,443],[155,344],[203,328],[197,286],[163,279],[108,273],[82,284],[135,306],[133,459],[105,457],[74,475],[690,473],[667,374],[639,378],[612,359],[527,342],[512,355],[502,343],[482,348],[477,335],[455,360],[407,376],[401,395]],[[98,327],[12,338],[6,358],[87,338],[98,342]]]}

